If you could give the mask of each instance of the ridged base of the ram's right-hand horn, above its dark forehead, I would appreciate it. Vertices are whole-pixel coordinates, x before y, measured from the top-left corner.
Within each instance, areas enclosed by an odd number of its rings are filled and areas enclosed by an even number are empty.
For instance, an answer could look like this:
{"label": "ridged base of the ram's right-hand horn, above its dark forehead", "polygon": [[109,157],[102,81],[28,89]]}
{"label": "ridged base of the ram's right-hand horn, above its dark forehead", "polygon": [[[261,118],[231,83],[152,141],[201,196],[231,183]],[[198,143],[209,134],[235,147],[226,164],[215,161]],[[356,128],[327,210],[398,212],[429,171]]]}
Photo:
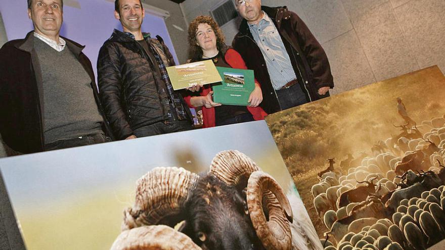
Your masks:
{"label": "ridged base of the ram's right-hand horn, above its dark forehead", "polygon": [[249,178],[252,172],[261,170],[252,159],[236,150],[216,154],[210,164],[209,174],[228,185],[237,185],[241,179]]}

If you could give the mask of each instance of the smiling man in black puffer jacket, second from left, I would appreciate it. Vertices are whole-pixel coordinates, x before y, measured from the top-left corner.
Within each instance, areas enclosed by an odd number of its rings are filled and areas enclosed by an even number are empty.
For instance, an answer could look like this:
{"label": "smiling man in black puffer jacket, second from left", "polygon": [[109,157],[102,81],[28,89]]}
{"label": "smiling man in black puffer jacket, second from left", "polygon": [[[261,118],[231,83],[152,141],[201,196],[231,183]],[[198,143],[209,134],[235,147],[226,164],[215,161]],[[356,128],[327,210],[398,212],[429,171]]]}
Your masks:
{"label": "smiling man in black puffer jacket, second from left", "polygon": [[115,1],[114,30],[101,47],[98,85],[101,102],[117,139],[185,131],[190,110],[173,91],[165,67],[174,65],[162,39],[142,33],[145,11],[140,0]]}

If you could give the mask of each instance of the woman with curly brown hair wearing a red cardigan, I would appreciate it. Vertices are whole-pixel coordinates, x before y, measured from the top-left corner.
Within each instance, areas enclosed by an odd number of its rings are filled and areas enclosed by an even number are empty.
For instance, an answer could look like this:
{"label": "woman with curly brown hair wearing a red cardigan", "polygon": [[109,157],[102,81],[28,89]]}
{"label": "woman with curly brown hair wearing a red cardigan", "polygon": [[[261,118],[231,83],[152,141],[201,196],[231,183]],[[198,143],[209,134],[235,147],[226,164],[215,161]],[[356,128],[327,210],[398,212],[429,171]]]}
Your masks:
{"label": "woman with curly brown hair wearing a red cardigan", "polygon": [[[225,38],[215,20],[209,16],[198,16],[189,26],[189,45],[191,62],[212,60],[215,66],[236,69],[247,69],[240,54],[227,46]],[[201,89],[200,89],[201,88]],[[262,101],[259,83],[250,93],[249,105],[221,105],[213,102],[210,84],[189,88],[192,92],[199,90],[199,95],[185,96],[191,108],[202,107],[203,127],[214,127],[233,123],[262,120],[267,114],[258,105]]]}

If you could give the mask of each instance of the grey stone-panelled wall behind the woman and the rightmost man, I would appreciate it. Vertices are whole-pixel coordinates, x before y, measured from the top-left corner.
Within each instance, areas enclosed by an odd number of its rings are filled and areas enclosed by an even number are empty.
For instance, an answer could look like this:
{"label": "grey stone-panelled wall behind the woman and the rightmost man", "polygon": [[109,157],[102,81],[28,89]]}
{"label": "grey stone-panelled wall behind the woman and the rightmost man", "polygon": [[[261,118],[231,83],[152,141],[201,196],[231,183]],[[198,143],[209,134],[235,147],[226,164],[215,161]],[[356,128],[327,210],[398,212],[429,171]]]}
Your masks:
{"label": "grey stone-panelled wall behind the woman and the rightmost man", "polygon": [[[186,0],[190,22],[220,0]],[[432,65],[445,72],[443,0],[263,0],[297,13],[322,44],[335,81],[333,93]],[[225,25],[226,43],[238,26]]]}

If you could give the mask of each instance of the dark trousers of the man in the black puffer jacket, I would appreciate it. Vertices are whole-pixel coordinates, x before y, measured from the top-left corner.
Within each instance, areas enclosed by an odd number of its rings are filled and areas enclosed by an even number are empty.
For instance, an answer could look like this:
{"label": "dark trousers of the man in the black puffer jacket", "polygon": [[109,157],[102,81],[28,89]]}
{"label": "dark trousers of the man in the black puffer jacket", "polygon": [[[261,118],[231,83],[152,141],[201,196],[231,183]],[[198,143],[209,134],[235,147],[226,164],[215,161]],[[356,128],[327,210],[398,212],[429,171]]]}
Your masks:
{"label": "dark trousers of the man in the black puffer jacket", "polygon": [[189,120],[183,121],[160,121],[141,128],[133,130],[136,137],[145,137],[158,134],[168,134],[173,132],[187,131],[192,129],[192,124]]}

